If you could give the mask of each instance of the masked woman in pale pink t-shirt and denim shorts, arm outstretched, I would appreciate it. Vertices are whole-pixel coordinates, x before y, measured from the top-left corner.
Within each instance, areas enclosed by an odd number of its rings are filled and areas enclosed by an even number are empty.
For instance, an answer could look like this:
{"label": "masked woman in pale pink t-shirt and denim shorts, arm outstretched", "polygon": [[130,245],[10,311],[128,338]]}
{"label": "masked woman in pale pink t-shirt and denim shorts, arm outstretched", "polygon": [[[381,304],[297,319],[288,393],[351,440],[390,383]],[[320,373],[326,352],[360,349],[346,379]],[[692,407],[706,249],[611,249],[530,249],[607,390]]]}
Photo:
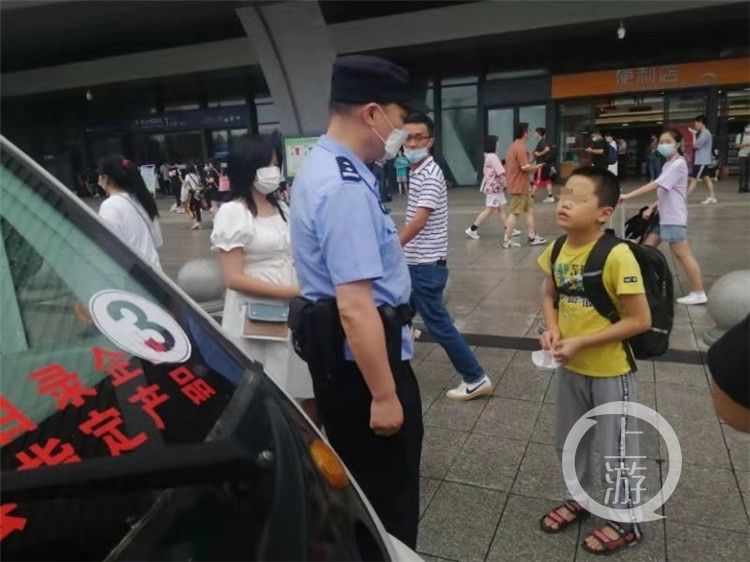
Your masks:
{"label": "masked woman in pale pink t-shirt and denim shorts, arm outstretched", "polygon": [[687,241],[688,169],[681,154],[681,144],[682,134],[679,131],[664,131],[657,146],[659,154],[666,159],[661,174],[654,181],[623,194],[621,200],[628,201],[656,191],[657,203],[643,212],[643,218],[649,219],[658,207],[659,225],[651,230],[643,243],[653,247],[658,247],[662,241],[669,243],[669,250],[682,265],[690,282],[690,294],[680,297],[677,302],[684,305],[705,304],[708,298],[703,290],[701,268]]}

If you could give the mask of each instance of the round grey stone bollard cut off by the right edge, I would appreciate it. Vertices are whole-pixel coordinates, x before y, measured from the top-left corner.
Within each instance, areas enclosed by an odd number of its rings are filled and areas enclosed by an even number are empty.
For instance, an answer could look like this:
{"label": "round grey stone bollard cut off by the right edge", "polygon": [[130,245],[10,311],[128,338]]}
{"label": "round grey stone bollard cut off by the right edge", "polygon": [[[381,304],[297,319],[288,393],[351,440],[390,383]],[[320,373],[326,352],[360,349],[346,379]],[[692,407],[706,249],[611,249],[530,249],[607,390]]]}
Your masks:
{"label": "round grey stone bollard cut off by the right edge", "polygon": [[710,346],[750,314],[750,269],[727,273],[711,286],[708,314],[716,324],[703,334],[703,341]]}

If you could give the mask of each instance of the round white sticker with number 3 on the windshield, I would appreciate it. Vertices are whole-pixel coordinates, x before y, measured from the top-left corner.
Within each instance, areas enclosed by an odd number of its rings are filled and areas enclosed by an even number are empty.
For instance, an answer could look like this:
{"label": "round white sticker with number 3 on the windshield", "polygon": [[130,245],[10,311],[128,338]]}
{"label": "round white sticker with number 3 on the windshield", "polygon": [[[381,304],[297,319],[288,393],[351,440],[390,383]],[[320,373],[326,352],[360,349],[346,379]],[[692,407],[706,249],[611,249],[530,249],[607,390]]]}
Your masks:
{"label": "round white sticker with number 3 on the windshield", "polygon": [[190,340],[172,316],[154,303],[107,289],[89,301],[94,324],[112,343],[152,363],[182,363],[191,354]]}

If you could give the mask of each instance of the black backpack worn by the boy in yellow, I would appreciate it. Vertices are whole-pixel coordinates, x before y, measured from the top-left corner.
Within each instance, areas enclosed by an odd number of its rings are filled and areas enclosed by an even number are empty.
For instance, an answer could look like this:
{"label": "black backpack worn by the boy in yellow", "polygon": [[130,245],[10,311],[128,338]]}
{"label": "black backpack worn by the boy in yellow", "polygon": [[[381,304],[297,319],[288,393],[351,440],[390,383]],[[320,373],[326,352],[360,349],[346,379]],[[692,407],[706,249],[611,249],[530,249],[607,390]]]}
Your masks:
{"label": "black backpack worn by the boy in yellow", "polygon": [[[556,289],[555,262],[566,239],[567,236],[561,236],[555,240],[552,246],[552,280]],[[609,256],[612,248],[618,244],[627,244],[630,251],[633,252],[641,268],[646,300],[648,300],[648,306],[651,309],[651,328],[642,334],[633,336],[627,342],[629,345],[624,346],[630,368],[635,371],[635,358],[658,357],[666,353],[669,348],[669,334],[674,322],[672,272],[669,270],[664,254],[657,248],[641,246],[629,240],[623,240],[608,230],[594,244],[591,254],[589,254],[586,264],[583,266],[583,289],[596,311],[613,324],[619,322],[620,315],[604,288],[602,274],[607,256]],[[555,306],[557,306],[558,298],[559,296],[555,299]]]}

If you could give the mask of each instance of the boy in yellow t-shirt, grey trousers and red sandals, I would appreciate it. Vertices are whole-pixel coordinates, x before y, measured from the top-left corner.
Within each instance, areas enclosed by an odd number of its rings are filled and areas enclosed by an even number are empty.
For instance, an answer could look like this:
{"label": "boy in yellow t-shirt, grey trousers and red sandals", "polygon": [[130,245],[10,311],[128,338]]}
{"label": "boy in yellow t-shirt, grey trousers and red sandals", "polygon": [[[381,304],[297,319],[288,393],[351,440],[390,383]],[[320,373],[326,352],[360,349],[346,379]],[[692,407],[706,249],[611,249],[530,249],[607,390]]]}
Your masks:
{"label": "boy in yellow t-shirt, grey trousers and red sandals", "polygon": [[[632,524],[608,521],[586,538],[583,547],[595,554],[634,546],[641,539],[632,497],[637,484],[629,476],[638,476],[632,472],[638,470],[633,459],[642,457],[638,456],[638,435],[633,433],[637,430],[634,419],[626,415],[627,403],[636,398],[636,384],[624,342],[650,328],[651,313],[640,267],[626,244],[618,244],[610,251],[601,273],[605,290],[619,313],[618,322],[610,322],[595,310],[584,290],[582,276],[586,259],[604,235],[604,224],[619,199],[620,186],[614,174],[594,167],[575,170],[557,206],[557,222],[567,233],[567,239],[555,260],[554,271],[554,244],[539,257],[539,266],[547,274],[542,300],[547,329],[541,343],[562,364],[558,369],[555,423],[560,459],[565,439],[579,418],[601,404],[623,404],[622,415],[596,419],[599,454],[593,462],[589,462],[593,432],[584,435],[576,450],[576,476],[584,490],[591,490],[593,473],[610,472],[611,466],[620,469],[613,473],[619,489],[599,503],[628,509],[633,515]],[[586,515],[585,506],[567,500],[542,516],[540,525],[547,533],[558,533]]]}

